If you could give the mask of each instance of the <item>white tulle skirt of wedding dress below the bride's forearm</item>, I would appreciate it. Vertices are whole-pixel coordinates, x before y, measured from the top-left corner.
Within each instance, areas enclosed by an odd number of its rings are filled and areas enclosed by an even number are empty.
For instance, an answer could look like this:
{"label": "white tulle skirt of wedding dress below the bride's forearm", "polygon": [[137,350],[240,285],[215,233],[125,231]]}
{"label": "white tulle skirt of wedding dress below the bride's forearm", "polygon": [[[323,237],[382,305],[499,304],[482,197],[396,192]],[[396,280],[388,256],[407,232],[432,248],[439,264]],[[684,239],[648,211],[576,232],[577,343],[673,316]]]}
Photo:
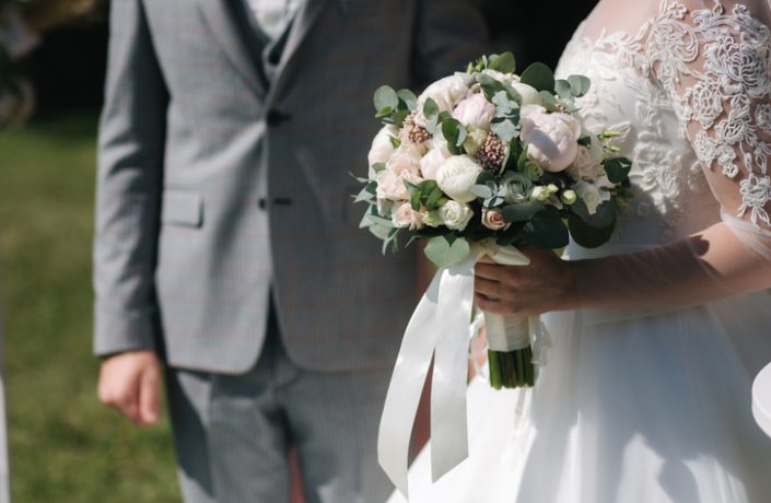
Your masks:
{"label": "white tulle skirt of wedding dress below the bride's forearm", "polygon": [[771,502],[750,397],[771,361],[769,292],[544,320],[553,347],[536,387],[475,379],[469,458],[432,484],[423,449],[410,503]]}

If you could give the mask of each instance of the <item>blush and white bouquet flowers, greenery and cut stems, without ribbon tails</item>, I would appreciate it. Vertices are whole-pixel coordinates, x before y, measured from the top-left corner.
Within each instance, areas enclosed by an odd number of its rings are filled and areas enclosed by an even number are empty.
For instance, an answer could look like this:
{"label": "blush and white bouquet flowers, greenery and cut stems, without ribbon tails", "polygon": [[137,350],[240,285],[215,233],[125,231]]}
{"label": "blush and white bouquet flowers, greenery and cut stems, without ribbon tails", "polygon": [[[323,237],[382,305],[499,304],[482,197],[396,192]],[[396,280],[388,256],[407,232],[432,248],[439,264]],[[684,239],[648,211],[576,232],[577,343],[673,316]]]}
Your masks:
{"label": "blush and white bouquet flowers, greenery and cut stems, without ribbon tails", "polygon": [[[576,114],[588,89],[586,77],[554,80],[541,63],[517,75],[511,54],[483,57],[420,96],[379,87],[385,126],[357,198],[369,203],[362,226],[384,249],[402,233],[425,239],[440,268],[474,248],[526,264],[512,246],[560,249],[569,236],[605,243],[630,196],[631,162],[609,144],[616,131],[588,130]],[[533,386],[533,320],[486,321],[491,385]]]}

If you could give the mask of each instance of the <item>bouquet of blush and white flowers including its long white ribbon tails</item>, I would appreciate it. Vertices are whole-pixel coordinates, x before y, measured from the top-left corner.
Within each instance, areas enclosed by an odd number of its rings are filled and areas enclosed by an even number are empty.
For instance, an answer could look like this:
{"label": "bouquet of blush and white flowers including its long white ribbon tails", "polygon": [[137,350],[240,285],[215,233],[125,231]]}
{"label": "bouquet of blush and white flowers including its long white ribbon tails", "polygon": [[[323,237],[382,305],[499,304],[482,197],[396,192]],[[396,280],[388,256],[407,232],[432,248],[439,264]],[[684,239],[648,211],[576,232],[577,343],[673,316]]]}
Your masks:
{"label": "bouquet of blush and white flowers including its long white ribbon tails", "polygon": [[[631,162],[619,132],[592,128],[576,98],[591,82],[556,80],[542,63],[515,74],[511,54],[482,57],[420,96],[382,86],[384,127],[369,154],[357,201],[361,226],[398,249],[400,236],[427,243],[437,267],[405,331],[381,419],[378,457],[407,495],[410,432],[433,362],[431,466],[434,480],[468,454],[468,338],[477,330],[474,266],[487,255],[526,265],[517,246],[559,250],[609,239],[631,197]],[[545,363],[546,330],[535,318],[484,314],[490,384],[529,387]]]}

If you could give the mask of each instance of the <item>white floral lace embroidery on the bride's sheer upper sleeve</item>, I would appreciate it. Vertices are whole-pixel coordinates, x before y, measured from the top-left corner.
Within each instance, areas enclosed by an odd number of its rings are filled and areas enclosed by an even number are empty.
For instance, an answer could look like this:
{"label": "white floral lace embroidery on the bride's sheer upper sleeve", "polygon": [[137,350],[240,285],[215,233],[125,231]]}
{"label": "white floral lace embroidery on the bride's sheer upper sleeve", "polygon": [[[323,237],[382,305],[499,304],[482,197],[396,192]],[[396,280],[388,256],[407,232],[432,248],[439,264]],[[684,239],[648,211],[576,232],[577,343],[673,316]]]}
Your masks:
{"label": "white floral lace embroidery on the bride's sheer upper sleeve", "polygon": [[743,4],[726,12],[715,1],[713,9],[689,15],[685,5],[664,0],[645,52],[682,126],[701,126],[692,142],[699,160],[739,179],[738,215],[750,211],[756,226],[771,225],[766,210],[771,143],[764,138],[771,134],[769,27]]}

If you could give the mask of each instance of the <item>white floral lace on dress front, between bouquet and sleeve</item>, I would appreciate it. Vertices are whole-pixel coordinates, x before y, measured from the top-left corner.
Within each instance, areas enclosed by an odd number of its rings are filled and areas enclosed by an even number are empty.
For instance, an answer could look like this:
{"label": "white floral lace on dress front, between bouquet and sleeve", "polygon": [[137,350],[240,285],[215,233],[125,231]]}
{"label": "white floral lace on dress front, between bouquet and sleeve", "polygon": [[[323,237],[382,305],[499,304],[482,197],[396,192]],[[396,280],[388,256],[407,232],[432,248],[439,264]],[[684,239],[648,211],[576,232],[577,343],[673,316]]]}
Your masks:
{"label": "white floral lace on dress front, between bouquet and sleeve", "polygon": [[[673,149],[666,125],[676,124],[677,117],[671,98],[651,78],[651,61],[643,42],[650,26],[651,23],[645,24],[635,35],[604,32],[597,39],[581,36],[580,28],[565,49],[558,73],[584,73],[589,69],[592,89],[579,100],[580,113],[589,125],[593,120],[612,124],[610,129],[624,133],[617,145],[634,161],[630,174],[635,191],[632,215],[658,215],[656,220],[663,227],[659,239],[668,242],[693,194],[706,192],[708,185],[692,150]],[[620,101],[630,102],[632,108],[623,109]],[[608,117],[610,113],[629,120],[618,122]],[[685,136],[677,140],[687,144]],[[619,222],[619,236],[626,234],[626,220]]]}

